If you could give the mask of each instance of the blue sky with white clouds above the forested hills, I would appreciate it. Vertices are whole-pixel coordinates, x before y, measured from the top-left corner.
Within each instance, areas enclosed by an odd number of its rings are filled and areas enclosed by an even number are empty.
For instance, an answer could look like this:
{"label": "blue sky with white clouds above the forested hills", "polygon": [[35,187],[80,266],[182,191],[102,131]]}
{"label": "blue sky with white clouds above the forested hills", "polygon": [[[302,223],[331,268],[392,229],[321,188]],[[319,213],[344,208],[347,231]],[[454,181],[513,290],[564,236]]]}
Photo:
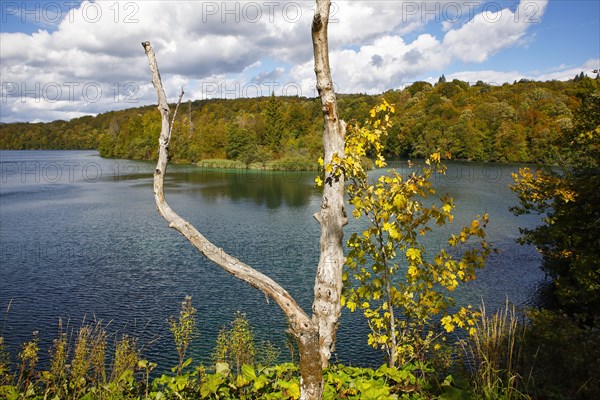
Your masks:
{"label": "blue sky with white clouds above the forested hills", "polygon": [[[0,0],[0,122],[69,120],[169,101],[315,97],[314,1]],[[595,77],[598,0],[332,0],[338,93],[416,81]]]}

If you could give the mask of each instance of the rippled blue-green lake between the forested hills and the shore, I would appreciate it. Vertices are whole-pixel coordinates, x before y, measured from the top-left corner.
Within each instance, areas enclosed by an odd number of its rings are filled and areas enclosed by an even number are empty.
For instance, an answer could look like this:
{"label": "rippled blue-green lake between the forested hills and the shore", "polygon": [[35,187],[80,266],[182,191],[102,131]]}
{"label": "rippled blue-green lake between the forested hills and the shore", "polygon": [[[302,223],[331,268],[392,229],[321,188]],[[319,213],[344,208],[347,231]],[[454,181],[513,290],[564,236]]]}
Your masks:
{"label": "rippled blue-green lake between the forested hills and the shore", "polygon": [[[403,163],[395,163],[404,168]],[[195,360],[210,362],[220,328],[236,311],[246,314],[257,340],[286,350],[287,326],[273,301],[205,260],[158,215],[152,193],[154,163],[111,160],[95,151],[0,151],[0,335],[14,355],[39,331],[40,356],[56,337],[58,320],[69,332],[82,321],[109,324],[109,332],[139,337],[143,354],[166,369],[176,364],[166,320],[185,295],[198,309]],[[519,226],[539,218],[515,217],[507,185],[517,165],[449,162],[436,175],[438,193],[457,204],[457,232],[488,212],[488,240],[499,250],[458,302],[488,310],[506,299],[535,305],[545,282],[535,249],[515,242]],[[372,171],[377,175],[382,171]],[[171,165],[167,201],[217,246],[282,284],[310,310],[318,262],[319,226],[312,215],[320,193],[314,172],[222,171]],[[361,229],[350,219],[346,237]],[[440,233],[431,245],[442,243]],[[377,366],[360,313],[343,311],[335,361]]]}

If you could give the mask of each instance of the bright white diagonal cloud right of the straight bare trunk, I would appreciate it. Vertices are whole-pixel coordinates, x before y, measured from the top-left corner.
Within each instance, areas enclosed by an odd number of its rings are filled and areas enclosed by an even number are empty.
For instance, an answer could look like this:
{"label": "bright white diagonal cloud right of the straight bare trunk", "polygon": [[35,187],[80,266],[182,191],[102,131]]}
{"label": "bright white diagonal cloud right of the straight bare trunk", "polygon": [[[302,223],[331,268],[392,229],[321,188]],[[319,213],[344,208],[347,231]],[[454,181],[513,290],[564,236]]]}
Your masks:
{"label": "bright white diagonal cloud right of the straight bare trunk", "polygon": [[[408,3],[417,4],[417,3]],[[331,53],[333,76],[342,92],[379,93],[399,88],[422,76],[426,71],[443,71],[452,62],[481,63],[502,49],[524,43],[533,23],[539,23],[547,1],[522,1],[515,10],[500,8],[499,3],[481,10],[445,8],[456,2],[435,3],[401,8],[405,14],[418,15],[423,23],[452,22],[438,38],[430,33],[407,42],[400,34],[379,35],[358,49],[338,48]],[[466,3],[465,3],[466,4]],[[454,7],[454,6],[453,6]],[[450,11],[452,10],[452,12]],[[469,16],[467,20],[465,16]],[[402,17],[408,18],[407,15]],[[376,62],[373,62],[373,60]],[[310,62],[292,70],[292,76],[306,82]]]}

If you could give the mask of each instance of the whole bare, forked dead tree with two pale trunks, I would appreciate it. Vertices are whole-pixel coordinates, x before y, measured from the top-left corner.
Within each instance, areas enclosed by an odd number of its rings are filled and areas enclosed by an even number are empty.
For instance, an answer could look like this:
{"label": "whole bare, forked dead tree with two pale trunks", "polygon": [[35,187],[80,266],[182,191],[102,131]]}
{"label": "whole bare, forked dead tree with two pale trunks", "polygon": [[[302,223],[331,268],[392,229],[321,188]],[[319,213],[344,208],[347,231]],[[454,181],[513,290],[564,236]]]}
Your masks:
{"label": "whole bare, forked dead tree with two pale trunks", "polygon": [[[325,121],[323,132],[325,163],[330,162],[336,153],[343,156],[345,132],[343,121],[338,119],[329,68],[327,45],[329,8],[329,0],[317,0],[312,24],[317,89],[321,97]],[[321,399],[323,395],[322,368],[328,365],[329,357],[335,347],[335,333],[340,316],[342,266],[344,264],[342,228],[346,224],[343,176],[325,177],[321,209],[315,214],[315,218],[321,225],[321,253],[315,280],[313,314],[309,316],[277,282],[211,243],[167,204],[163,186],[169,159],[172,121],[169,119],[169,105],[160,78],[156,56],[150,42],[144,42],[142,45],[148,57],[152,84],[156,89],[158,109],[161,115],[159,157],[154,171],[154,197],[159,213],[167,220],[169,227],[181,233],[205,257],[228,273],[262,291],[279,305],[289,320],[291,333],[298,342],[301,399]],[[181,102],[182,95],[183,91],[179,102]],[[177,109],[175,109],[176,112]]]}

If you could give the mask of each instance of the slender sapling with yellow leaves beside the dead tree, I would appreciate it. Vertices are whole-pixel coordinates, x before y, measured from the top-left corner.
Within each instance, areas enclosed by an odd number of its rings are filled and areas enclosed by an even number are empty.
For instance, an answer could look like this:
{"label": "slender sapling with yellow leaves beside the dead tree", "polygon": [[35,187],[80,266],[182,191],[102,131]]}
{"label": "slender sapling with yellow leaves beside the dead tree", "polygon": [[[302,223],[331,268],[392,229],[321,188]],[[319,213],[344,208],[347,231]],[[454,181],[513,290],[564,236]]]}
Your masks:
{"label": "slender sapling with yellow leaves beside the dead tree", "polygon": [[[455,207],[448,196],[440,197],[438,204],[425,204],[435,195],[432,175],[445,171],[440,153],[425,160],[420,172],[403,176],[390,170],[369,181],[363,160],[374,156],[378,167],[386,166],[382,142],[394,111],[383,100],[364,125],[349,125],[345,157],[334,156],[324,166],[330,176],[344,174],[354,217],[369,222],[364,232],[354,233],[347,242],[342,304],[350,311],[363,311],[371,328],[368,343],[385,352],[390,367],[424,363],[445,340],[444,330],[474,331],[476,313],[470,306],[451,311],[455,308],[451,294],[461,283],[475,279],[490,252],[484,214],[450,236],[447,248],[428,253],[424,236],[434,225],[451,222]],[[409,167],[414,165],[409,162]],[[444,330],[435,329],[438,323]]]}

